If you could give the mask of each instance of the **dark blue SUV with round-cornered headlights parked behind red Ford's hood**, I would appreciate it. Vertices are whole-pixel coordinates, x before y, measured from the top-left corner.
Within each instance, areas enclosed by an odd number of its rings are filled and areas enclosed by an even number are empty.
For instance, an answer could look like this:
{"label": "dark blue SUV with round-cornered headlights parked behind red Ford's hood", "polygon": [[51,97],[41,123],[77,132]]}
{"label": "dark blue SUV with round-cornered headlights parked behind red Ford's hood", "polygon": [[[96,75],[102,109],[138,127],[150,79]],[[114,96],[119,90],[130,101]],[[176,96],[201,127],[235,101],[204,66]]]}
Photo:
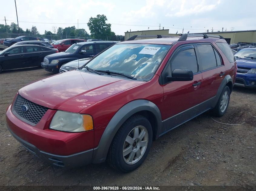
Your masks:
{"label": "dark blue SUV with round-cornered headlights parked behind red Ford's hood", "polygon": [[59,69],[63,64],[77,59],[93,57],[115,43],[117,42],[93,41],[75,43],[65,52],[45,56],[44,62],[41,63],[41,66],[48,72],[59,73]]}

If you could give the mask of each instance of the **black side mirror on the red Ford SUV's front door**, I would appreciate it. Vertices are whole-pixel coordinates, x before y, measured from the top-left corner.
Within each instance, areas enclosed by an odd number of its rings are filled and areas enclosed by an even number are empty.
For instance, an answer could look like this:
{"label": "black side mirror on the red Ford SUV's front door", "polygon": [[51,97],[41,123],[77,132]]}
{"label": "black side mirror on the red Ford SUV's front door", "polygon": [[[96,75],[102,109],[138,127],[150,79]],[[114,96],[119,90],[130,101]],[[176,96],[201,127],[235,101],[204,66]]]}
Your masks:
{"label": "black side mirror on the red Ford SUV's front door", "polygon": [[192,81],[193,72],[191,70],[175,69],[171,76],[166,77],[168,81]]}

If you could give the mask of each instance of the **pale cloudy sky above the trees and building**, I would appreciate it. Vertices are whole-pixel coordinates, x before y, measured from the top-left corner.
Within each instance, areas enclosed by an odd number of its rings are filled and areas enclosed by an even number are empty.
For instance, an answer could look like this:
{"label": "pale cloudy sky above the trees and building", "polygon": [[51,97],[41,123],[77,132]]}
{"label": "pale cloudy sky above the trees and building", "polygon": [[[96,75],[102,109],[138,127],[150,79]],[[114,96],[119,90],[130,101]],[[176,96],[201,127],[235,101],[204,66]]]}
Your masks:
{"label": "pale cloudy sky above the trees and building", "polygon": [[[0,24],[17,24],[15,1],[4,1]],[[169,29],[169,33],[256,30],[255,0],[16,0],[19,27],[36,26],[40,34],[52,27],[84,28],[89,18],[104,14],[111,31]],[[251,9],[251,10],[250,10]]]}

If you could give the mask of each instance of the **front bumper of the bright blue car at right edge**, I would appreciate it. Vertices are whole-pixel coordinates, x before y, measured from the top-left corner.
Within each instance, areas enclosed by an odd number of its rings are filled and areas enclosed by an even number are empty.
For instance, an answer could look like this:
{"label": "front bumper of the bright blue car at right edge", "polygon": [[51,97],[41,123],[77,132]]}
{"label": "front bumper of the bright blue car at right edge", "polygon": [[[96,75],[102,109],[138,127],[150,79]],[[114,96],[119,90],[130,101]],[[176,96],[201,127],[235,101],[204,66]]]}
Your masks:
{"label": "front bumper of the bright blue car at right edge", "polygon": [[[254,85],[251,84],[252,82],[254,82]],[[237,74],[234,85],[246,88],[256,88],[256,74]]]}

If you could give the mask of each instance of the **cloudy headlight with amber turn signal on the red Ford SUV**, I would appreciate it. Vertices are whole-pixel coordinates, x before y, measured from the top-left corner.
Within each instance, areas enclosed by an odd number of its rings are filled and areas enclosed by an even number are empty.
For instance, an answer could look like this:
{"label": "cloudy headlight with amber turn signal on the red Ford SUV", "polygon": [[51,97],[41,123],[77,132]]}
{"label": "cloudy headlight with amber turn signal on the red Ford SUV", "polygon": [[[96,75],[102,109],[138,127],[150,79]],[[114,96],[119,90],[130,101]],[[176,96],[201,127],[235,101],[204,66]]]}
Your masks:
{"label": "cloudy headlight with amber turn signal on the red Ford SUV", "polygon": [[58,131],[83,132],[92,130],[93,122],[90,115],[57,111],[49,128]]}

